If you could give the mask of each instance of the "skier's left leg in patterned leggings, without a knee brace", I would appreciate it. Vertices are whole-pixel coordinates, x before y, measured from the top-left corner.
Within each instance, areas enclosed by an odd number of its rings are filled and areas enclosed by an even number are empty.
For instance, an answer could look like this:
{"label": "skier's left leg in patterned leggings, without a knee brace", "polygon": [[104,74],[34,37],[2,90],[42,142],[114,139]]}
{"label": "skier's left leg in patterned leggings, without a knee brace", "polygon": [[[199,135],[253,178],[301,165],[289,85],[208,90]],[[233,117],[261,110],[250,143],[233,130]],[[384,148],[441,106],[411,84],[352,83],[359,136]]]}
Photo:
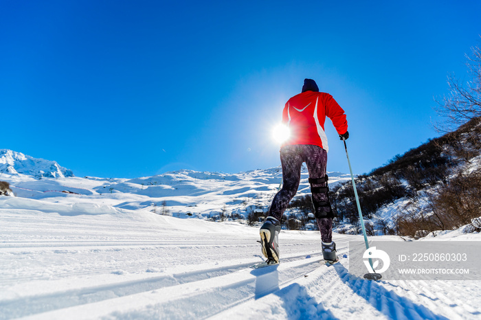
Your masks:
{"label": "skier's left leg in patterned leggings, without a knee brace", "polygon": [[277,220],[282,219],[282,214],[298,192],[302,157],[299,152],[300,146],[284,146],[280,150],[280,163],[282,164],[282,189],[274,196],[269,209],[269,216]]}

